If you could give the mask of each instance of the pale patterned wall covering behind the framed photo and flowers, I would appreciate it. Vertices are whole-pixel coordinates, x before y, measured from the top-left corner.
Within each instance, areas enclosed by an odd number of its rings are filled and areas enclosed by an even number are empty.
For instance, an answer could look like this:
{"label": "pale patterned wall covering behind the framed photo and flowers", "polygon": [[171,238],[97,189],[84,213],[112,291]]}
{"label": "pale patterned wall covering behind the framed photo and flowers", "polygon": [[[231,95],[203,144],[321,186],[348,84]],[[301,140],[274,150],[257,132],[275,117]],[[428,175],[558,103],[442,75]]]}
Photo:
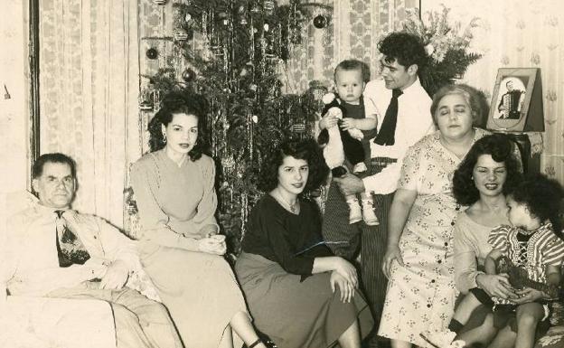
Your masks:
{"label": "pale patterned wall covering behind the framed photo and flowers", "polygon": [[[530,134],[532,151],[541,152],[540,172],[564,183],[564,4],[559,0],[448,2],[452,20],[479,17],[473,47],[484,54],[470,66],[465,82],[491,100],[499,68],[540,68],[544,133]],[[422,0],[423,12],[439,3]]]}

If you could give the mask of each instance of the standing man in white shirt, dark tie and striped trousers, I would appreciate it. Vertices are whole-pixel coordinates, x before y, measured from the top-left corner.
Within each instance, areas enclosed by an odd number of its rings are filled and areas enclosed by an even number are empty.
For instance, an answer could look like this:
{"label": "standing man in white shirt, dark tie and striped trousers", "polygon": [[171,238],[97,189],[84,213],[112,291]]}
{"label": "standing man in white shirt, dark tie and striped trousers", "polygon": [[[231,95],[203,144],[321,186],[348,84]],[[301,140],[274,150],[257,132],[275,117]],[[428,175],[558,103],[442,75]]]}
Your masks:
{"label": "standing man in white shirt, dark tie and striped trousers", "polygon": [[[371,192],[380,225],[368,226],[362,222],[349,225],[343,200],[327,199],[339,206],[326,211],[343,212],[343,216],[324,217],[324,237],[331,238],[335,231],[348,230],[361,238],[362,287],[368,297],[376,327],[386,296],[387,279],[381,270],[386,252],[388,211],[400,179],[401,161],[409,146],[434,130],[430,114],[431,99],[418,80],[418,72],[428,56],[418,37],[409,33],[390,33],[381,40],[382,80],[371,80],[364,89],[366,115],[376,114],[378,135],[371,142],[371,175],[363,179],[346,174],[334,179],[341,193],[330,188],[332,194]],[[371,346],[377,346],[376,339]]]}

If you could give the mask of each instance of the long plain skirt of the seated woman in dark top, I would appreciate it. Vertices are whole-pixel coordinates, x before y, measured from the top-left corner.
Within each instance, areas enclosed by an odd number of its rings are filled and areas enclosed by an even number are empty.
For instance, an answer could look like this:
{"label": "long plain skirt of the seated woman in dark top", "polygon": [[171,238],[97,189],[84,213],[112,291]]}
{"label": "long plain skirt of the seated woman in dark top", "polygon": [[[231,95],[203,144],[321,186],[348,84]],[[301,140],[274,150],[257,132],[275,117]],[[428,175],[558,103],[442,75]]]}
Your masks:
{"label": "long plain skirt of the seated woman in dark top", "polygon": [[306,277],[289,274],[276,262],[241,253],[235,273],[258,330],[279,348],[330,347],[358,318],[362,337],[373,325],[362,293],[343,304],[331,291],[329,273]]}

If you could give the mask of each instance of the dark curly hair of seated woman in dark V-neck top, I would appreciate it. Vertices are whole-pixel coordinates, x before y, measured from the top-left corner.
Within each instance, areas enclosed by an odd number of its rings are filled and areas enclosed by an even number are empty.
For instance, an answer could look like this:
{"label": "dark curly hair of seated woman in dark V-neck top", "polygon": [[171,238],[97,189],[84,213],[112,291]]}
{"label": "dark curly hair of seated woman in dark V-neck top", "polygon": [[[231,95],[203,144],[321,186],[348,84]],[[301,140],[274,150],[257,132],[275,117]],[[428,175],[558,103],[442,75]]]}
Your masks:
{"label": "dark curly hair of seated woman in dark V-neck top", "polygon": [[304,159],[309,165],[309,176],[302,194],[310,193],[324,183],[327,174],[329,174],[329,167],[325,165],[321,149],[317,146],[315,140],[287,140],[275,146],[268,157],[263,159],[258,175],[259,190],[268,193],[277,187],[278,168],[287,156]]}

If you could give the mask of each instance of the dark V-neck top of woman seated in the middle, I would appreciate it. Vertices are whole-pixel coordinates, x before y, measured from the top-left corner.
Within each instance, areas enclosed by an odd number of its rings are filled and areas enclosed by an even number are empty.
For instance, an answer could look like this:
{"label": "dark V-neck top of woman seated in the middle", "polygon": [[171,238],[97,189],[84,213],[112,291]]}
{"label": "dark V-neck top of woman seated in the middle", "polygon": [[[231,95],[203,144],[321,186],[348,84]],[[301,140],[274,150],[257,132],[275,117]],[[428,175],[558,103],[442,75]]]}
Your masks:
{"label": "dark V-neck top of woman seated in the middle", "polygon": [[321,215],[315,202],[300,199],[296,215],[265,194],[250,212],[242,249],[277,262],[288,273],[308,276],[316,257],[333,255],[323,243]]}

